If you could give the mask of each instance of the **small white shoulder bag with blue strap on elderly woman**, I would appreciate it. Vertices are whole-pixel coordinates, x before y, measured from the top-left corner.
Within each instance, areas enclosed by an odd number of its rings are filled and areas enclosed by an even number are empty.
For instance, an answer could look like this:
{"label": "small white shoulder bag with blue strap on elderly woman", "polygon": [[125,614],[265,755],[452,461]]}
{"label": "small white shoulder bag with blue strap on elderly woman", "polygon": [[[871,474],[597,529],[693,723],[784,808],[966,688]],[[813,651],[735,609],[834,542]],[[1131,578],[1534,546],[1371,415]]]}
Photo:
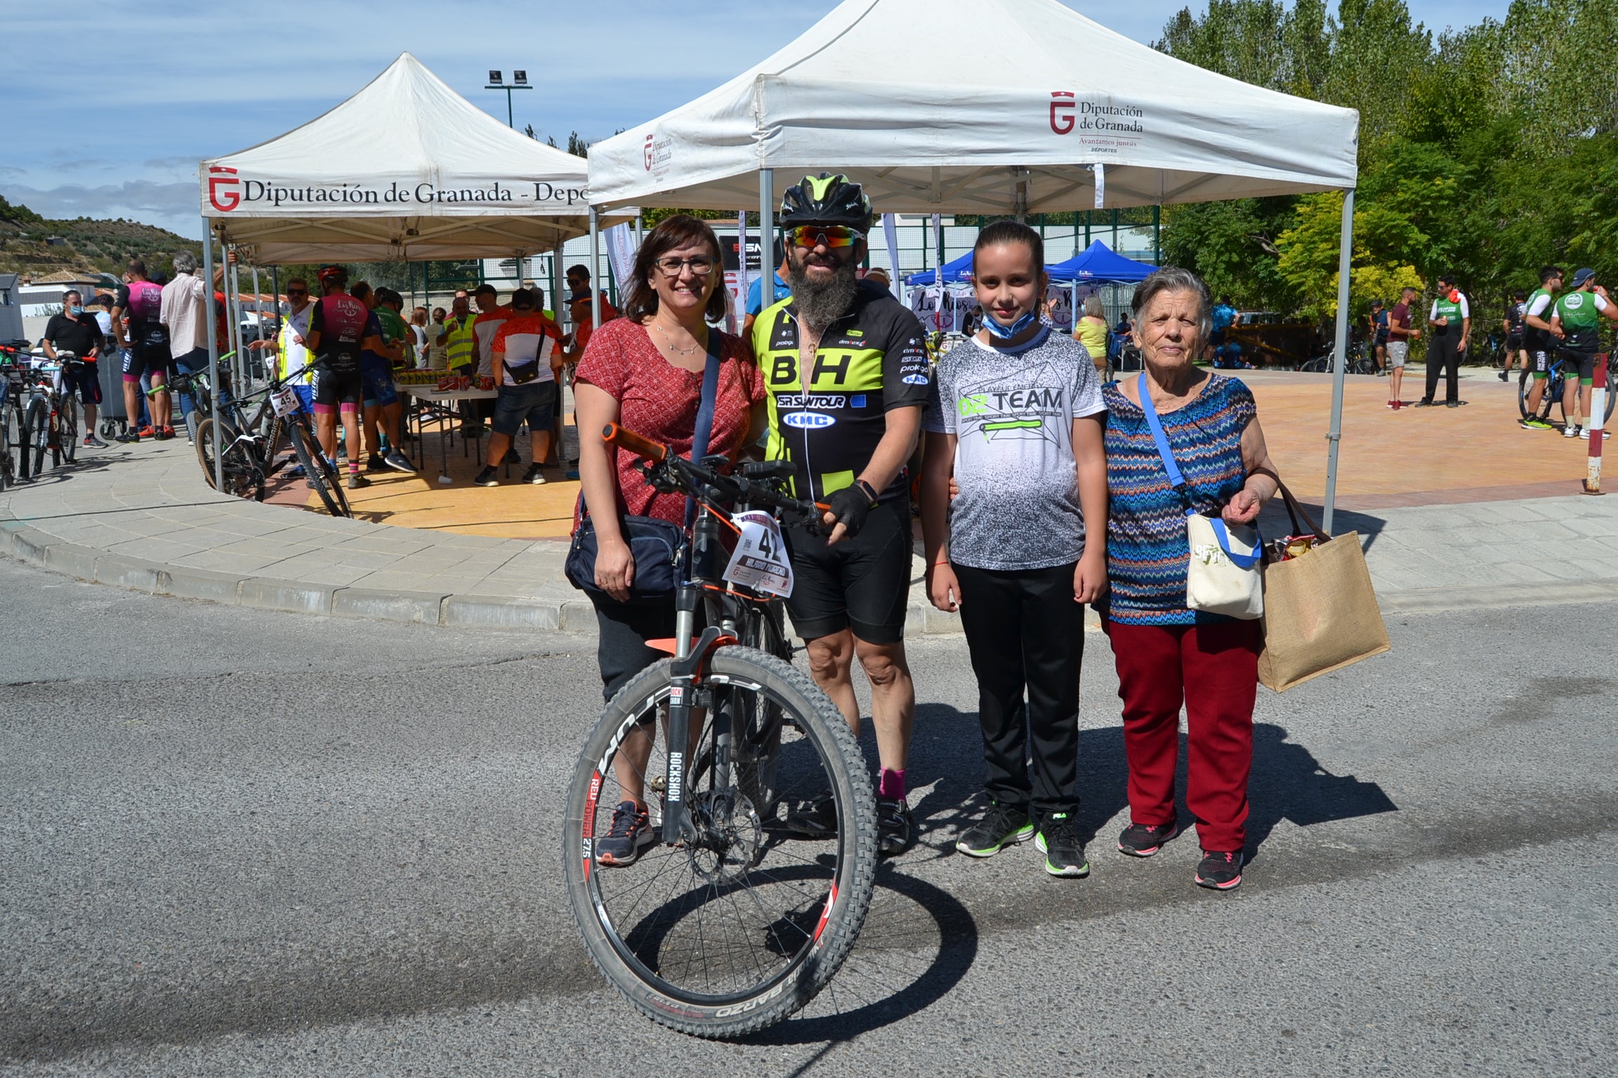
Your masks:
{"label": "small white shoulder bag with blue strap on elderly woman", "polygon": [[1264,537],[1259,528],[1243,524],[1228,527],[1218,517],[1204,517],[1191,507],[1186,493],[1186,477],[1175,464],[1168,448],[1163,423],[1157,419],[1152,394],[1141,373],[1137,390],[1146,425],[1152,428],[1157,456],[1168,472],[1168,483],[1186,503],[1186,546],[1191,561],[1186,566],[1186,606],[1209,614],[1254,621],[1264,616]]}

